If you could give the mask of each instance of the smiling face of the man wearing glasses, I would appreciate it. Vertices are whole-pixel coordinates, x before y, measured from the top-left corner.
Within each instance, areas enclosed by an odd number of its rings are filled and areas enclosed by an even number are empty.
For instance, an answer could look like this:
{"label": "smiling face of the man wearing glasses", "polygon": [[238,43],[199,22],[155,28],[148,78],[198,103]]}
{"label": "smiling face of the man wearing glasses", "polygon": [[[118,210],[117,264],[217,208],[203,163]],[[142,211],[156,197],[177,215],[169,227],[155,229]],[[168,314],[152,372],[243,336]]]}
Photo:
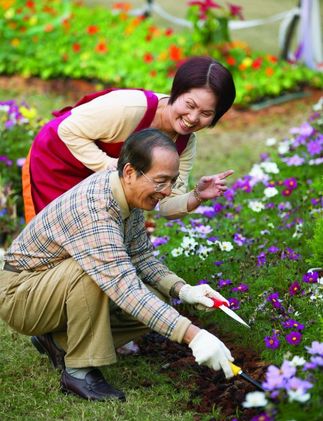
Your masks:
{"label": "smiling face of the man wearing glasses", "polygon": [[[179,174],[179,157],[177,152],[155,148],[152,154],[152,165],[144,175],[138,176],[134,171],[127,184],[127,201],[130,208],[153,210],[157,203],[171,194],[171,184]],[[156,186],[166,183],[162,191]],[[158,187],[157,187],[158,189]]]}

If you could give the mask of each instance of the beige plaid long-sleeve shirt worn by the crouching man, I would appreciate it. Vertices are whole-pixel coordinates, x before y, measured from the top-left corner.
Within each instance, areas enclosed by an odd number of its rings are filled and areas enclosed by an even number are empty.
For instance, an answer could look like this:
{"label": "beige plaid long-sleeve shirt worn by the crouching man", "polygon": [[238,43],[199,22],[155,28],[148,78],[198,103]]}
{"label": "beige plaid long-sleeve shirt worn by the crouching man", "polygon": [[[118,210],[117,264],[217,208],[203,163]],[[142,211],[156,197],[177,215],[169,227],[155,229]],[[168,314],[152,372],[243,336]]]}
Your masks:
{"label": "beige plaid long-sleeve shirt worn by the crouching man", "polygon": [[5,261],[42,271],[72,257],[124,311],[181,342],[191,322],[145,283],[169,295],[171,286],[182,279],[152,252],[143,211],[129,211],[117,173],[101,171],[39,213],[13,241]]}

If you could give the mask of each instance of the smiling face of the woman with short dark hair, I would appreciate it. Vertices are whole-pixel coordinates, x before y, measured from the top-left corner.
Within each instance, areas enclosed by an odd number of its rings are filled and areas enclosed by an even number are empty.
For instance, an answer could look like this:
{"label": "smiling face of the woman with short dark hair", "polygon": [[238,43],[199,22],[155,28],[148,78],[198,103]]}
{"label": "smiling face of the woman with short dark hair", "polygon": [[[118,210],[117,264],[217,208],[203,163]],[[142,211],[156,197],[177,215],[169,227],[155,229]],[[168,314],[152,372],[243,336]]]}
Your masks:
{"label": "smiling face of the woman with short dark hair", "polygon": [[173,130],[185,135],[208,127],[214,118],[217,99],[207,88],[194,88],[180,95],[169,107]]}

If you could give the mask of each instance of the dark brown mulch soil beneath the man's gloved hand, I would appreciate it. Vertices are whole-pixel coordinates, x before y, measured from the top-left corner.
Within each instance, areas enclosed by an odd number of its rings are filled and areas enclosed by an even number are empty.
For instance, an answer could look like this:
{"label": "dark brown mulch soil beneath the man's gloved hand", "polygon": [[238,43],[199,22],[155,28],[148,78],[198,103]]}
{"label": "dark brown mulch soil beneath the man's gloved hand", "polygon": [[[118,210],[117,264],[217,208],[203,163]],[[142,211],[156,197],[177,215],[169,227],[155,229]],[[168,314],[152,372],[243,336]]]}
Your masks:
{"label": "dark brown mulch soil beneath the man's gloved hand", "polygon": [[[242,347],[227,334],[220,334],[216,327],[208,327],[207,330],[224,341],[236,358],[234,363],[243,368],[244,373],[260,383],[264,380],[269,364],[262,362],[255,351]],[[221,409],[223,420],[231,420],[236,417],[239,421],[249,421],[257,414],[254,409],[242,407],[246,393],[258,389],[241,377],[236,376],[227,380],[222,371],[213,371],[197,365],[190,348],[169,341],[156,333],[142,338],[139,346],[140,353],[152,363],[156,364],[158,361],[161,373],[169,376],[174,387],[189,390],[190,400],[187,409],[197,414],[194,418],[195,421],[200,420],[202,414],[204,417],[210,414],[209,420],[211,421],[213,419],[212,408]],[[184,371],[186,374],[183,374]]]}

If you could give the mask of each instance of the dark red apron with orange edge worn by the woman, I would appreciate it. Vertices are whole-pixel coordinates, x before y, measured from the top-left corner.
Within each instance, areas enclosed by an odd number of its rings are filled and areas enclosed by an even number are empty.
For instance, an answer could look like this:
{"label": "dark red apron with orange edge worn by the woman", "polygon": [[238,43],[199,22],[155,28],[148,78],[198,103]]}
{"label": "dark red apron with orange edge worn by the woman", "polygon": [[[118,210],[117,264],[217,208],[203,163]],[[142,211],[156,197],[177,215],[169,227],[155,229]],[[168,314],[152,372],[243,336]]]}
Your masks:
{"label": "dark red apron with orange edge worn by the woman", "polygon": [[[72,108],[85,104],[101,95],[108,94],[113,90],[107,89],[87,95],[73,107],[65,107],[62,110],[54,111],[53,115],[56,118],[49,121],[37,134],[22,171],[25,219],[27,223],[58,196],[93,174],[93,171],[72,155],[58,136],[57,129],[60,123],[71,114]],[[146,96],[147,110],[134,132],[150,127],[158,105],[158,97],[153,92],[142,91]],[[188,139],[189,136],[179,136],[177,139],[176,146],[179,154],[186,148]],[[95,143],[107,155],[112,158],[118,158],[123,141],[104,143],[97,140]]]}

